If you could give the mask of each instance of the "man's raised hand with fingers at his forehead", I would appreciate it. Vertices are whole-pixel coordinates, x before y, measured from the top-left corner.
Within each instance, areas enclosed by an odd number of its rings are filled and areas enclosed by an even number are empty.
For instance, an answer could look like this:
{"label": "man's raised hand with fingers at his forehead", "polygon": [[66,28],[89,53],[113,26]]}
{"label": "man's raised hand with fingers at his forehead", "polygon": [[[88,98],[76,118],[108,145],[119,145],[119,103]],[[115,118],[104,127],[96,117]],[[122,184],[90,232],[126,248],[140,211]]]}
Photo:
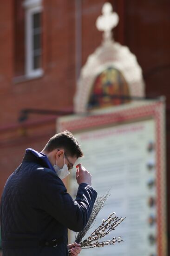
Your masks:
{"label": "man's raised hand with fingers at his forehead", "polygon": [[81,163],[76,165],[76,180],[78,185],[81,183],[87,183],[92,186],[92,175],[82,166]]}

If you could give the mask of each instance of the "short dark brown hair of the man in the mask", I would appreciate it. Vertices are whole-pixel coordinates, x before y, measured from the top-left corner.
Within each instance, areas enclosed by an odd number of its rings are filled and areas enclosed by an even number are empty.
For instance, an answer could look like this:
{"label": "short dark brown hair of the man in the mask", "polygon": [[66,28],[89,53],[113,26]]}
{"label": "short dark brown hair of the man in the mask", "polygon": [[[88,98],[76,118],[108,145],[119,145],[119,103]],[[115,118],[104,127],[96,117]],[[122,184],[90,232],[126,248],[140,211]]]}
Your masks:
{"label": "short dark brown hair of the man in the mask", "polygon": [[71,132],[65,130],[64,132],[54,135],[46,144],[44,150],[51,152],[56,148],[64,148],[65,154],[70,156],[83,156],[78,140]]}

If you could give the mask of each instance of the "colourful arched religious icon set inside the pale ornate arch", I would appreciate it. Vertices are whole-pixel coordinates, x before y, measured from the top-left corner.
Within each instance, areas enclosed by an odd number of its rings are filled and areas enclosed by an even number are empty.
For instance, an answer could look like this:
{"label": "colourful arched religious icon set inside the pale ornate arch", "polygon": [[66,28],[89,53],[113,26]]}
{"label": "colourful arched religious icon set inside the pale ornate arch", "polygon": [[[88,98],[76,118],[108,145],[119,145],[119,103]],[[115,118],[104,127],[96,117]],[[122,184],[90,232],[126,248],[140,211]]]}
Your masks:
{"label": "colourful arched religious icon set inside the pale ornate arch", "polygon": [[115,67],[101,72],[93,83],[88,108],[103,108],[128,103],[130,92],[123,74]]}

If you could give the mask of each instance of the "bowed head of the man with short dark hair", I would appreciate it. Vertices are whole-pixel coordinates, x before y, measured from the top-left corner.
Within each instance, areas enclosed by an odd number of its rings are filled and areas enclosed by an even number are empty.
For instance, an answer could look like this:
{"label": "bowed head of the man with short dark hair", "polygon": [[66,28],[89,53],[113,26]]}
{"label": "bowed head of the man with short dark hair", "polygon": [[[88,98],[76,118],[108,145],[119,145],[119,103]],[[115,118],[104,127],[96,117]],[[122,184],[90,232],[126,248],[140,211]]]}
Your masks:
{"label": "bowed head of the man with short dark hair", "polygon": [[78,157],[83,156],[77,139],[69,131],[54,135],[42,150],[52,163],[63,168],[64,162],[68,169],[72,168]]}

